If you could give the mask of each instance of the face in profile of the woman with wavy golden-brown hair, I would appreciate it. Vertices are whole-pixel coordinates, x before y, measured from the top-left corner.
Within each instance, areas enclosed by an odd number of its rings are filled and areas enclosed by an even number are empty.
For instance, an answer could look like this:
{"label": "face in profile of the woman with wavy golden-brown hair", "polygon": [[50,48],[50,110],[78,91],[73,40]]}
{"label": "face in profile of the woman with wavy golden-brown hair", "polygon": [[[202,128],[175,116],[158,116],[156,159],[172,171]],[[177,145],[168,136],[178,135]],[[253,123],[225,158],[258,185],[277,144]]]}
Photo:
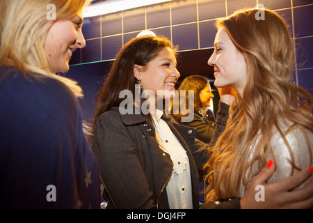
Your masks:
{"label": "face in profile of the woman with wavy golden-brown hair", "polygon": [[210,66],[214,66],[214,85],[218,88],[232,86],[242,95],[247,78],[247,63],[223,28],[216,33],[214,49],[208,61]]}

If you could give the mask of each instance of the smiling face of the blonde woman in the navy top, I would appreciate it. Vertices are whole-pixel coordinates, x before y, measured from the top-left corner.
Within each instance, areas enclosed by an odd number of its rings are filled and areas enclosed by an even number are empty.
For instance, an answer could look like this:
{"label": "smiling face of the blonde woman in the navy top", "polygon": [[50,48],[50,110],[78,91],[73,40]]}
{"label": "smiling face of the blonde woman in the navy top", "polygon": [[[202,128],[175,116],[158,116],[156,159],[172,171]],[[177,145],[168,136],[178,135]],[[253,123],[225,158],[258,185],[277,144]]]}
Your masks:
{"label": "smiling face of the blonde woman in the navy top", "polygon": [[56,20],[50,27],[45,39],[51,72],[67,72],[72,52],[86,45],[81,26],[82,15],[75,16],[72,20]]}

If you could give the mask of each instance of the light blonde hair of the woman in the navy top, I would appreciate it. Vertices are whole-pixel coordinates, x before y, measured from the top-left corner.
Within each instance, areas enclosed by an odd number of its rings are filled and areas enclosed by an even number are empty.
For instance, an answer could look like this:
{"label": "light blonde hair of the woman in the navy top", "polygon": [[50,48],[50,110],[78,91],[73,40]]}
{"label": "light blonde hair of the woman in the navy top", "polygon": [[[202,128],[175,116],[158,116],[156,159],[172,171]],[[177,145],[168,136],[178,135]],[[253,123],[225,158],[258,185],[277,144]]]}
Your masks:
{"label": "light blonde hair of the woman in the navy top", "polygon": [[[47,6],[56,6],[56,20],[70,20],[88,4],[87,0],[1,0],[0,68],[14,66],[24,75],[53,77],[65,83],[77,97],[81,87],[71,79],[51,72],[44,49],[47,32],[54,20],[47,20]],[[38,75],[40,74],[40,75]]]}

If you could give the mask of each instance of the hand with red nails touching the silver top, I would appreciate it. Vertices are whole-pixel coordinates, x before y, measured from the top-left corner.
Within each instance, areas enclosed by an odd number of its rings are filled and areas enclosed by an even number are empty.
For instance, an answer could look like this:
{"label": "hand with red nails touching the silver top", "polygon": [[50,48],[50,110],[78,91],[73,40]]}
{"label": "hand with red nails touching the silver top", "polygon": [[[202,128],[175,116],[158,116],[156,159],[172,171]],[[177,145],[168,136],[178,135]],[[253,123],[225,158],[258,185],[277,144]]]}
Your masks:
{"label": "hand with red nails touching the silver top", "polygon": [[[312,175],[312,170],[312,167],[303,169],[280,182],[265,185],[266,180],[275,171],[275,164],[270,160],[251,181],[245,196],[240,201],[241,208],[313,208],[313,180],[305,187],[294,190]],[[257,185],[264,186],[264,201],[257,201],[257,193],[262,190],[262,186],[257,187]],[[256,190],[256,188],[261,189]]]}

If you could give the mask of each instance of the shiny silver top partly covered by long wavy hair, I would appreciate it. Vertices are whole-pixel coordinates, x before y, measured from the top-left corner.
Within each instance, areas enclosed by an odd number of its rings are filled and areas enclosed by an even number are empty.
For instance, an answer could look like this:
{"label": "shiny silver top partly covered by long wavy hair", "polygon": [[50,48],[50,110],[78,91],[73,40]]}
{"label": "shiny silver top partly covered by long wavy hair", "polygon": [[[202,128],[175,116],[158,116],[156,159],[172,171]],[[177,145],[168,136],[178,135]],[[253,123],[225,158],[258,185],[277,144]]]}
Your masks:
{"label": "shiny silver top partly covered by long wavy hair", "polygon": [[[286,125],[281,124],[282,132],[286,133],[288,128]],[[273,160],[275,162],[275,172],[271,178],[268,179],[267,183],[275,183],[278,182],[284,178],[288,178],[291,176],[291,173],[293,171],[293,168],[291,167],[291,164],[288,160],[291,160],[291,156],[294,157],[294,162],[296,164],[296,167],[299,167],[300,169],[312,167],[313,166],[313,133],[310,130],[306,130],[310,146],[307,146],[307,142],[305,141],[305,136],[303,132],[299,128],[296,128],[293,131],[289,131],[287,135],[285,136],[290,147],[291,152],[289,151],[289,148],[284,143],[284,139],[280,135],[280,132],[278,132],[277,129],[273,130],[273,137],[271,139],[271,146],[273,148],[273,153],[275,156],[275,161],[273,158],[273,154],[271,151],[266,151],[266,160],[267,162],[269,160]],[[260,131],[258,132],[257,136],[254,139],[254,142],[250,146],[250,151],[248,152],[248,156],[246,159],[246,162],[249,162],[252,160],[252,157],[255,157],[256,155],[256,147],[259,143],[259,139],[262,137],[262,134]],[[260,161],[255,161],[250,166],[250,168],[247,171],[246,177],[248,182],[259,173],[259,171],[262,170],[264,166],[262,166],[262,163]],[[294,169],[294,174],[297,172],[296,169]],[[313,175],[310,176],[309,180],[306,180],[305,183],[300,185],[299,187],[303,187],[304,185],[307,185],[307,183],[310,182],[310,180],[313,179]],[[241,188],[239,192],[239,197],[243,197],[244,193],[246,191],[246,187],[243,186],[243,183],[241,183]]]}

